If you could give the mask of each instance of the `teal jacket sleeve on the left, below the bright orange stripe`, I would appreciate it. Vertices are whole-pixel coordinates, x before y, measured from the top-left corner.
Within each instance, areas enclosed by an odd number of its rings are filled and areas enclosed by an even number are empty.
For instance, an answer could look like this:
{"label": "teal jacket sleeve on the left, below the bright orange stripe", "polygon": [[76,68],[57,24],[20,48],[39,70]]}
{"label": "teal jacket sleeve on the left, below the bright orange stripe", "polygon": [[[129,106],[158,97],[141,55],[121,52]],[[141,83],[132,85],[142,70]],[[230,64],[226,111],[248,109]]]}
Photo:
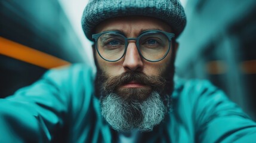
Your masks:
{"label": "teal jacket sleeve on the left, below the bright orange stripe", "polygon": [[[86,74],[83,78],[81,74]],[[80,77],[79,77],[80,75]],[[72,99],[75,86],[88,86],[92,92],[90,68],[72,66],[48,71],[14,95],[0,100],[0,142],[52,142],[78,108],[80,97]],[[76,89],[77,92],[80,90]],[[88,97],[90,97],[88,95]],[[81,100],[81,98],[80,98]]]}

